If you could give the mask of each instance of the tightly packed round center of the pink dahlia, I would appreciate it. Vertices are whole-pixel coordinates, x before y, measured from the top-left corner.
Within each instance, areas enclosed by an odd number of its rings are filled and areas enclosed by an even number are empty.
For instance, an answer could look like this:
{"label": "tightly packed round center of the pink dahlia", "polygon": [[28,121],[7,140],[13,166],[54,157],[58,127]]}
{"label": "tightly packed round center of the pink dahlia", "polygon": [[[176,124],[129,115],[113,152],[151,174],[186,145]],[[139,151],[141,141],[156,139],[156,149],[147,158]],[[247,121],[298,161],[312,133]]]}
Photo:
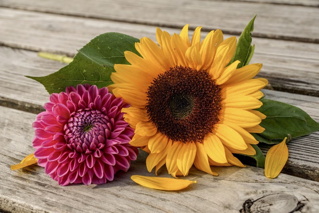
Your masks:
{"label": "tightly packed round center of the pink dahlia", "polygon": [[110,130],[108,116],[99,110],[78,110],[64,126],[65,139],[70,149],[91,153],[105,146],[106,130]]}

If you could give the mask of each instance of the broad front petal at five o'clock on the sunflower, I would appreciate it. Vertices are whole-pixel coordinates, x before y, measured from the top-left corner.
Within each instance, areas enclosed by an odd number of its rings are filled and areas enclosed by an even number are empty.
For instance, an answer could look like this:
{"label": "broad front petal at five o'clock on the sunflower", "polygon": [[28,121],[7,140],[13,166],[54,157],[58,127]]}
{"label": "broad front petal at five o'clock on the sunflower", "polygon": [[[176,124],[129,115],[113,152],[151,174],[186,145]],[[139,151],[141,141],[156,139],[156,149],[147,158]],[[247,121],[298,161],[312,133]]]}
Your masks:
{"label": "broad front petal at five o'clock on the sunflower", "polygon": [[220,164],[227,163],[223,143],[213,133],[208,133],[203,141],[207,155],[215,162]]}

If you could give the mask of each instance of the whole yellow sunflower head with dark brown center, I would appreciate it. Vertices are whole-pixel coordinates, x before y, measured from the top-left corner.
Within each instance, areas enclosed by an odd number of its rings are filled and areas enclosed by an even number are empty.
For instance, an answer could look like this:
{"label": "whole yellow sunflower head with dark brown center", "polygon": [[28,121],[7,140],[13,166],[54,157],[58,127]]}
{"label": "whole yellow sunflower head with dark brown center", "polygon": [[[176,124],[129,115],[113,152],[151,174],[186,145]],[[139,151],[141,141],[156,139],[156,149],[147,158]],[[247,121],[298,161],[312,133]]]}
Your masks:
{"label": "whole yellow sunflower head with dark brown center", "polygon": [[[255,78],[262,64],[237,69],[231,61],[237,39],[223,39],[221,30],[201,41],[197,27],[189,41],[188,25],[170,35],[157,28],[159,45],[141,38],[138,56],[126,51],[131,65],[116,64],[109,86],[131,106],[122,109],[124,120],[135,129],[131,145],[149,155],[146,166],[155,172],[166,164],[173,177],[197,169],[218,175],[210,165],[244,165],[232,153],[255,155],[250,133],[261,133],[266,116],[260,91],[268,83]],[[229,65],[228,65],[229,64]]]}

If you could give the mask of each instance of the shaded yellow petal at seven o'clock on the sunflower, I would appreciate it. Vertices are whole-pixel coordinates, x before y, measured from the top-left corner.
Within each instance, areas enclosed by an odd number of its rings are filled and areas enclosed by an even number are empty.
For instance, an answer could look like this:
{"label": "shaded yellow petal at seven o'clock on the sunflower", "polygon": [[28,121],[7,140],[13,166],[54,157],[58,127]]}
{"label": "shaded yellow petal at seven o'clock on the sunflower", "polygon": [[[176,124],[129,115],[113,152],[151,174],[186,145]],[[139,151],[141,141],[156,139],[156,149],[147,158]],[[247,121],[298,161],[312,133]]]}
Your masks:
{"label": "shaded yellow petal at seven o'clock on the sunflower", "polygon": [[[159,153],[151,153],[151,154],[149,154],[147,156],[147,158],[146,158],[146,167],[147,167],[147,170],[149,172],[152,171],[154,166],[157,166],[158,164],[161,164],[161,165],[159,165],[159,167],[161,167],[162,165],[165,164],[166,156],[167,156],[167,153],[169,151],[169,148],[171,148],[171,146],[172,146],[172,140],[169,140],[168,143],[166,144],[166,147],[161,152],[159,152]],[[156,169],[156,172],[157,172],[158,169]]]}

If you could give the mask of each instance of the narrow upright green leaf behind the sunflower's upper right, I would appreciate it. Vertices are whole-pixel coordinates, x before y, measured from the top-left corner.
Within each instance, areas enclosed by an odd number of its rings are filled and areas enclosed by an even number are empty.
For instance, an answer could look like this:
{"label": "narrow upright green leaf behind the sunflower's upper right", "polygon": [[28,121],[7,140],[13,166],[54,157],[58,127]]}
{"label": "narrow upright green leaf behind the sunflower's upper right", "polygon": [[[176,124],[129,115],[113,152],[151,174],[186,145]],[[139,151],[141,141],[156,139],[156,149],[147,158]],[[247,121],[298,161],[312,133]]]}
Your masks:
{"label": "narrow upright green leaf behind the sunflower's upper right", "polygon": [[[244,31],[241,33],[236,50],[233,58],[230,60],[229,64],[233,63],[236,60],[239,60],[241,63],[238,64],[237,68],[241,68],[245,65],[248,65],[251,57],[254,54],[255,45],[251,46],[251,32],[254,31],[254,21],[256,15],[251,19],[248,25],[245,27]],[[228,65],[229,65],[228,64]]]}

